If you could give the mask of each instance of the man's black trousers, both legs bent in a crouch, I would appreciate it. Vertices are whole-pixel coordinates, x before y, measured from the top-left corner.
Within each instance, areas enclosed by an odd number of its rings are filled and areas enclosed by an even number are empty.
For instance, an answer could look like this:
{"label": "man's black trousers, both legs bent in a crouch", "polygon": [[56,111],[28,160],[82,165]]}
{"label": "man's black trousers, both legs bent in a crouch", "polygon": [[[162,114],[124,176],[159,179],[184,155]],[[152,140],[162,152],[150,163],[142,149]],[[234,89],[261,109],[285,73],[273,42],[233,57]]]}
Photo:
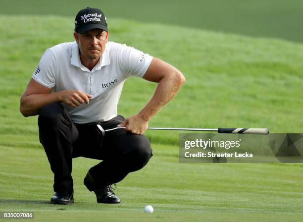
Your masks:
{"label": "man's black trousers, both legs bent in a crouch", "polygon": [[43,145],[54,173],[55,192],[72,192],[72,158],[102,160],[90,168],[96,187],[117,183],[129,172],[141,169],[152,157],[150,141],[144,135],[117,129],[102,138],[97,124],[104,129],[117,127],[124,120],[118,115],[108,121],[76,124],[59,103],[40,110],[38,125]]}

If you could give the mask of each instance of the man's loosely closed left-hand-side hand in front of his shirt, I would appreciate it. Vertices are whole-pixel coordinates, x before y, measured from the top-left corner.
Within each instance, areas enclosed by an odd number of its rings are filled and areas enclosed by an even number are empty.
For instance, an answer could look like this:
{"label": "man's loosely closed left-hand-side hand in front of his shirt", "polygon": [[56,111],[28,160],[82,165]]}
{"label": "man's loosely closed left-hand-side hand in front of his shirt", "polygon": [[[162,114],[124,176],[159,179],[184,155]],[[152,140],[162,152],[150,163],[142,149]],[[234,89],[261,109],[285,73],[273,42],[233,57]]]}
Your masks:
{"label": "man's loosely closed left-hand-side hand in front of his shirt", "polygon": [[84,102],[89,104],[89,99],[92,98],[92,95],[80,90],[64,90],[59,93],[58,98],[60,102],[65,103],[72,108],[76,108],[81,106]]}

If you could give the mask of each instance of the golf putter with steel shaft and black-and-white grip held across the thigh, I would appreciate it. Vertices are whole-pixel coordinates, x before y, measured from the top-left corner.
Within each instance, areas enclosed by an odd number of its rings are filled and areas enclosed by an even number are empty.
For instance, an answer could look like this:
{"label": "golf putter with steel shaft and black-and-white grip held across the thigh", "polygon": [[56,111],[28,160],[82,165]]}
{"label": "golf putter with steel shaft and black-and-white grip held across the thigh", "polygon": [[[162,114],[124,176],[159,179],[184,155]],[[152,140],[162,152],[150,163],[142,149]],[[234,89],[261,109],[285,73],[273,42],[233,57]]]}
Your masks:
{"label": "golf putter with steel shaft and black-and-white grip held across the thigh", "polygon": [[[100,124],[97,124],[97,127],[100,129],[102,136],[105,135],[105,132],[116,130],[116,129],[125,129],[125,127],[115,127],[112,129],[103,129]],[[148,127],[147,129],[156,129],[156,130],[184,130],[184,131],[207,131],[207,132],[218,132],[218,133],[243,133],[243,134],[264,134],[268,135],[268,128],[217,128],[217,129],[204,129],[204,128],[160,128],[160,127]]]}

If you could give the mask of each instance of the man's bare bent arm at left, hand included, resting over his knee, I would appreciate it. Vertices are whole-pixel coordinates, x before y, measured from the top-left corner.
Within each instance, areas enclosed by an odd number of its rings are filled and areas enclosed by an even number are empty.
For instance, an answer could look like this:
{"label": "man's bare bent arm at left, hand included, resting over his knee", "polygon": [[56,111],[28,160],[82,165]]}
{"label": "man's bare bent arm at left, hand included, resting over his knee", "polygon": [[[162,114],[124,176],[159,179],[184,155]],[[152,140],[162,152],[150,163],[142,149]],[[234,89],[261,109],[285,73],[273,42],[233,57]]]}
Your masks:
{"label": "man's bare bent arm at left, hand included, resting over his knee", "polygon": [[20,112],[25,116],[37,115],[42,107],[50,103],[65,103],[72,108],[82,103],[89,104],[92,97],[79,90],[65,90],[51,93],[52,88],[45,87],[31,79],[20,99]]}

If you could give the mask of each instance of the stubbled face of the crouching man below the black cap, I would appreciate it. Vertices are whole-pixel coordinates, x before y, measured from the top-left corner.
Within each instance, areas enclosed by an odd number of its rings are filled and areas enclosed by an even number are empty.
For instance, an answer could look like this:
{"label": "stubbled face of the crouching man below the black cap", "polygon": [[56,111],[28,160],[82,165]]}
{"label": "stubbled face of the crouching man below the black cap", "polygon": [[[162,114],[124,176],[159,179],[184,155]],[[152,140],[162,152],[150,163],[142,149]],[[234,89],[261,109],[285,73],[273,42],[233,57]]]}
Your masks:
{"label": "stubbled face of the crouching man below the black cap", "polygon": [[108,32],[101,29],[92,29],[83,34],[74,32],[79,45],[81,59],[96,60],[102,56],[108,40]]}

